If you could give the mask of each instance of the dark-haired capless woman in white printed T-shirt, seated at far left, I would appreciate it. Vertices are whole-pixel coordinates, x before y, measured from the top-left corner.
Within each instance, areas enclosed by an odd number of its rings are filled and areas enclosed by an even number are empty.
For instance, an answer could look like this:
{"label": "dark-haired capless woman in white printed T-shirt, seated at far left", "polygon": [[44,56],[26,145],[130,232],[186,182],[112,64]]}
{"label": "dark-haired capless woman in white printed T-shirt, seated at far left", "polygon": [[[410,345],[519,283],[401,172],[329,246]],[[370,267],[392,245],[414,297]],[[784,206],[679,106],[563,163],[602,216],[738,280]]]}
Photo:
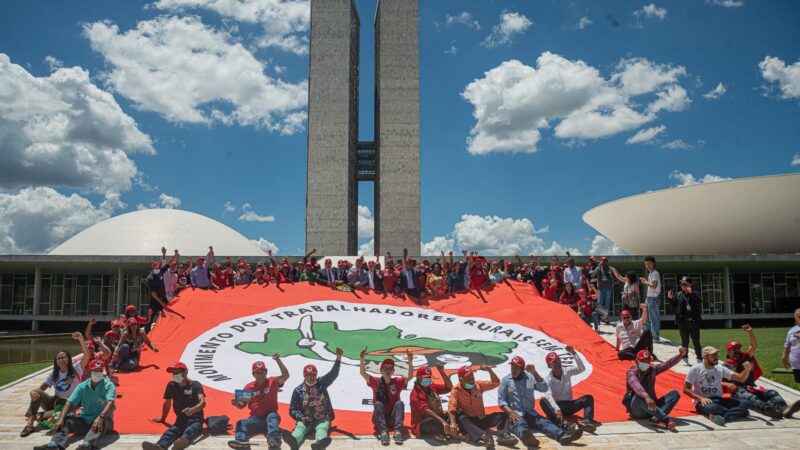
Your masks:
{"label": "dark-haired capless woman in white printed T-shirt, seated at far left", "polygon": [[[72,355],[66,351],[61,350],[53,357],[53,370],[47,373],[42,384],[30,392],[31,402],[28,405],[28,411],[25,413],[27,423],[19,434],[20,437],[27,437],[33,433],[36,428],[34,421],[39,413],[39,408],[42,408],[44,415],[42,420],[47,420],[53,414],[57,405],[63,405],[75,388],[81,383],[81,376],[83,375],[84,366],[88,364],[87,354],[83,354],[83,359],[87,362],[72,361]],[[47,389],[52,387],[53,395],[47,393]]]}

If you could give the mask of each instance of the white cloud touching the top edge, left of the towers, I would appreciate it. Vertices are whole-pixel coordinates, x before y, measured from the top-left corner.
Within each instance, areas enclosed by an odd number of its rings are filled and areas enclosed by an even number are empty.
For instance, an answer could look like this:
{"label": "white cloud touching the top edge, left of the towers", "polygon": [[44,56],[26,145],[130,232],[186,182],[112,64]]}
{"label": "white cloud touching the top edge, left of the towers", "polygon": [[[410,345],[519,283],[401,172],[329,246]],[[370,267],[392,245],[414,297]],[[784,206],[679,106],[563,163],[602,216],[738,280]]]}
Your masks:
{"label": "white cloud touching the top edge, left of the towers", "polygon": [[261,24],[264,35],[259,46],[308,53],[308,0],[158,0],[153,6],[167,11],[207,9],[239,22]]}

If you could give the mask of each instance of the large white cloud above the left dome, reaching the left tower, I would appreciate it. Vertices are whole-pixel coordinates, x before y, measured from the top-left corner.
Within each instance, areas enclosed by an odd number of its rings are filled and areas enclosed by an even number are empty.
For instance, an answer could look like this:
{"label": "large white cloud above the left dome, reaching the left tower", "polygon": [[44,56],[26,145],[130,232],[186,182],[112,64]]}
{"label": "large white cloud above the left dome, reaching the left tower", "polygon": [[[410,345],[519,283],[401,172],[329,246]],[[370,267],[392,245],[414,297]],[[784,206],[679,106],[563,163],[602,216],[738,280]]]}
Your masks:
{"label": "large white cloud above the left dome, reaching the left tower", "polygon": [[107,84],[138,109],[173,122],[303,129],[307,82],[268,77],[242,44],[197,17],[157,17],[126,32],[95,22],[84,35],[111,66]]}

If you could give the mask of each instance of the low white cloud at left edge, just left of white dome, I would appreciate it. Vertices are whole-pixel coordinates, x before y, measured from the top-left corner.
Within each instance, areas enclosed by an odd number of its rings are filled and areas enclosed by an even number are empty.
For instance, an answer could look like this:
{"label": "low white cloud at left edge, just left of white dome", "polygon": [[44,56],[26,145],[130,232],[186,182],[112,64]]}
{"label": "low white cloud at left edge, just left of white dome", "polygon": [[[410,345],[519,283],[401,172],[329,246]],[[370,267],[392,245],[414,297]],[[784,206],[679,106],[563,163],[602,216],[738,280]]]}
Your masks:
{"label": "low white cloud at left edge, just left of white dome", "polygon": [[78,194],[66,196],[49,187],[0,193],[0,253],[47,252],[124,206],[116,194],[95,206]]}

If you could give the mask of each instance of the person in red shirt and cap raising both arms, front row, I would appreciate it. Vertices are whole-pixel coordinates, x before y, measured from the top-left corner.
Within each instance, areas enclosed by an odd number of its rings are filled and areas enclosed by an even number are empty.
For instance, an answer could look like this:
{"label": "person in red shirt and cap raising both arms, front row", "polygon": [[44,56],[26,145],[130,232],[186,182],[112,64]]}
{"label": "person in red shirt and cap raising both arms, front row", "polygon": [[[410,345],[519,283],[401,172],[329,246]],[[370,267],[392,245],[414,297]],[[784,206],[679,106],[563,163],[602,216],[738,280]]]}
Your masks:
{"label": "person in red shirt and cap raising both arms, front row", "polygon": [[381,444],[389,445],[389,423],[394,428],[394,441],[402,444],[405,440],[403,436],[403,416],[405,414],[405,404],[400,400],[400,393],[406,388],[408,382],[414,378],[414,355],[406,352],[406,364],[408,364],[408,374],[405,377],[393,377],[394,360],[386,358],[381,362],[380,377],[373,377],[367,373],[364,359],[367,356],[367,347],[364,347],[359,354],[359,371],[361,377],[367,382],[367,386],[372,389],[372,425],[375,433],[381,440]]}

